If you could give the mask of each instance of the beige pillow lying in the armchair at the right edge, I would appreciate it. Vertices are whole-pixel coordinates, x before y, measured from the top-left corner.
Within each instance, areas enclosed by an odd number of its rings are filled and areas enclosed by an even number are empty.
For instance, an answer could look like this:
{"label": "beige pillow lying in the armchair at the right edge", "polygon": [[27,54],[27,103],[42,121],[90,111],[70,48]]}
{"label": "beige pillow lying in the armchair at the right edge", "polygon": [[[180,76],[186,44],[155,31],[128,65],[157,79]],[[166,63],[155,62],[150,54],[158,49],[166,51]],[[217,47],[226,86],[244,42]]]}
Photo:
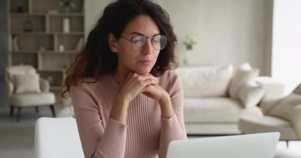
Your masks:
{"label": "beige pillow lying in the armchair at the right edge", "polygon": [[299,104],[301,104],[301,85],[299,85],[290,95],[281,100],[270,111],[269,115],[290,121],[292,109]]}

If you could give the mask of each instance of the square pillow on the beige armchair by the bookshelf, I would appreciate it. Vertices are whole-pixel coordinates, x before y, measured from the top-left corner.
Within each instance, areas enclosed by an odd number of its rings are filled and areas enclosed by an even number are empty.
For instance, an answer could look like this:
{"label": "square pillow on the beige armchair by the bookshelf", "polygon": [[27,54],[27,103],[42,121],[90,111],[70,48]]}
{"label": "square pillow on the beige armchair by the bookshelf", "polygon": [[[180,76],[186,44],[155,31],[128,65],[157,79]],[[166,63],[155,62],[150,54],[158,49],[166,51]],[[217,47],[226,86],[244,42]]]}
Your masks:
{"label": "square pillow on the beige armchair by the bookshelf", "polygon": [[13,75],[15,94],[26,92],[41,92],[39,74]]}

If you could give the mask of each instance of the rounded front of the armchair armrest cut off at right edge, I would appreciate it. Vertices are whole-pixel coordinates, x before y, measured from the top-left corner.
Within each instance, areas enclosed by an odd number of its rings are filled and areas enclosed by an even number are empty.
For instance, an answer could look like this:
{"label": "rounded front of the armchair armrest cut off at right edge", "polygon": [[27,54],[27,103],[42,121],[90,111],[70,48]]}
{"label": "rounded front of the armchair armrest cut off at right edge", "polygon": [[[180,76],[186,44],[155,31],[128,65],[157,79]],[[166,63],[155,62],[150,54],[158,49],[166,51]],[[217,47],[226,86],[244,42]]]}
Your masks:
{"label": "rounded front of the armchair armrest cut off at right edge", "polygon": [[293,108],[291,115],[291,123],[297,133],[298,139],[301,140],[301,104]]}

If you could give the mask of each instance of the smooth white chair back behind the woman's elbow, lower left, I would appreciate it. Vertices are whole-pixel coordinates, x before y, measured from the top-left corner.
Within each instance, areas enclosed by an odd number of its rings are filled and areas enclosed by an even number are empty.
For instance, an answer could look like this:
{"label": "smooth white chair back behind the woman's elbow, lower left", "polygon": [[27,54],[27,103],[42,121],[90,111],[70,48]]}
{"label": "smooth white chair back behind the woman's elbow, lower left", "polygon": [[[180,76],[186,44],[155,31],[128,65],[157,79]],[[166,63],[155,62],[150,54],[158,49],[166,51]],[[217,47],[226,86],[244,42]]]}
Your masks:
{"label": "smooth white chair back behind the woman's elbow, lower left", "polygon": [[84,158],[75,118],[39,118],[35,158]]}

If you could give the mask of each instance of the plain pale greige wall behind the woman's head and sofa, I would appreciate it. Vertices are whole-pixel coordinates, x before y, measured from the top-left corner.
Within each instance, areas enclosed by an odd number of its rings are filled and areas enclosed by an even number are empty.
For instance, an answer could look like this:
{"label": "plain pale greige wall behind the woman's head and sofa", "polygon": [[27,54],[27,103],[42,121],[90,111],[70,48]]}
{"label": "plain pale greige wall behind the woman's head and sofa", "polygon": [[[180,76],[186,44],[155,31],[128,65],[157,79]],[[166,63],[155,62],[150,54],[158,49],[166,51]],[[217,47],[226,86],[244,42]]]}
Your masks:
{"label": "plain pale greige wall behind the woman's head and sofa", "polygon": [[[86,23],[93,25],[102,9],[111,0],[86,0]],[[191,65],[232,63],[235,68],[244,62],[261,69],[266,57],[265,14],[267,0],[154,0],[171,17],[178,37],[177,54],[185,52],[183,41],[195,36],[198,44],[189,58]],[[269,0],[270,1],[270,0]]]}

